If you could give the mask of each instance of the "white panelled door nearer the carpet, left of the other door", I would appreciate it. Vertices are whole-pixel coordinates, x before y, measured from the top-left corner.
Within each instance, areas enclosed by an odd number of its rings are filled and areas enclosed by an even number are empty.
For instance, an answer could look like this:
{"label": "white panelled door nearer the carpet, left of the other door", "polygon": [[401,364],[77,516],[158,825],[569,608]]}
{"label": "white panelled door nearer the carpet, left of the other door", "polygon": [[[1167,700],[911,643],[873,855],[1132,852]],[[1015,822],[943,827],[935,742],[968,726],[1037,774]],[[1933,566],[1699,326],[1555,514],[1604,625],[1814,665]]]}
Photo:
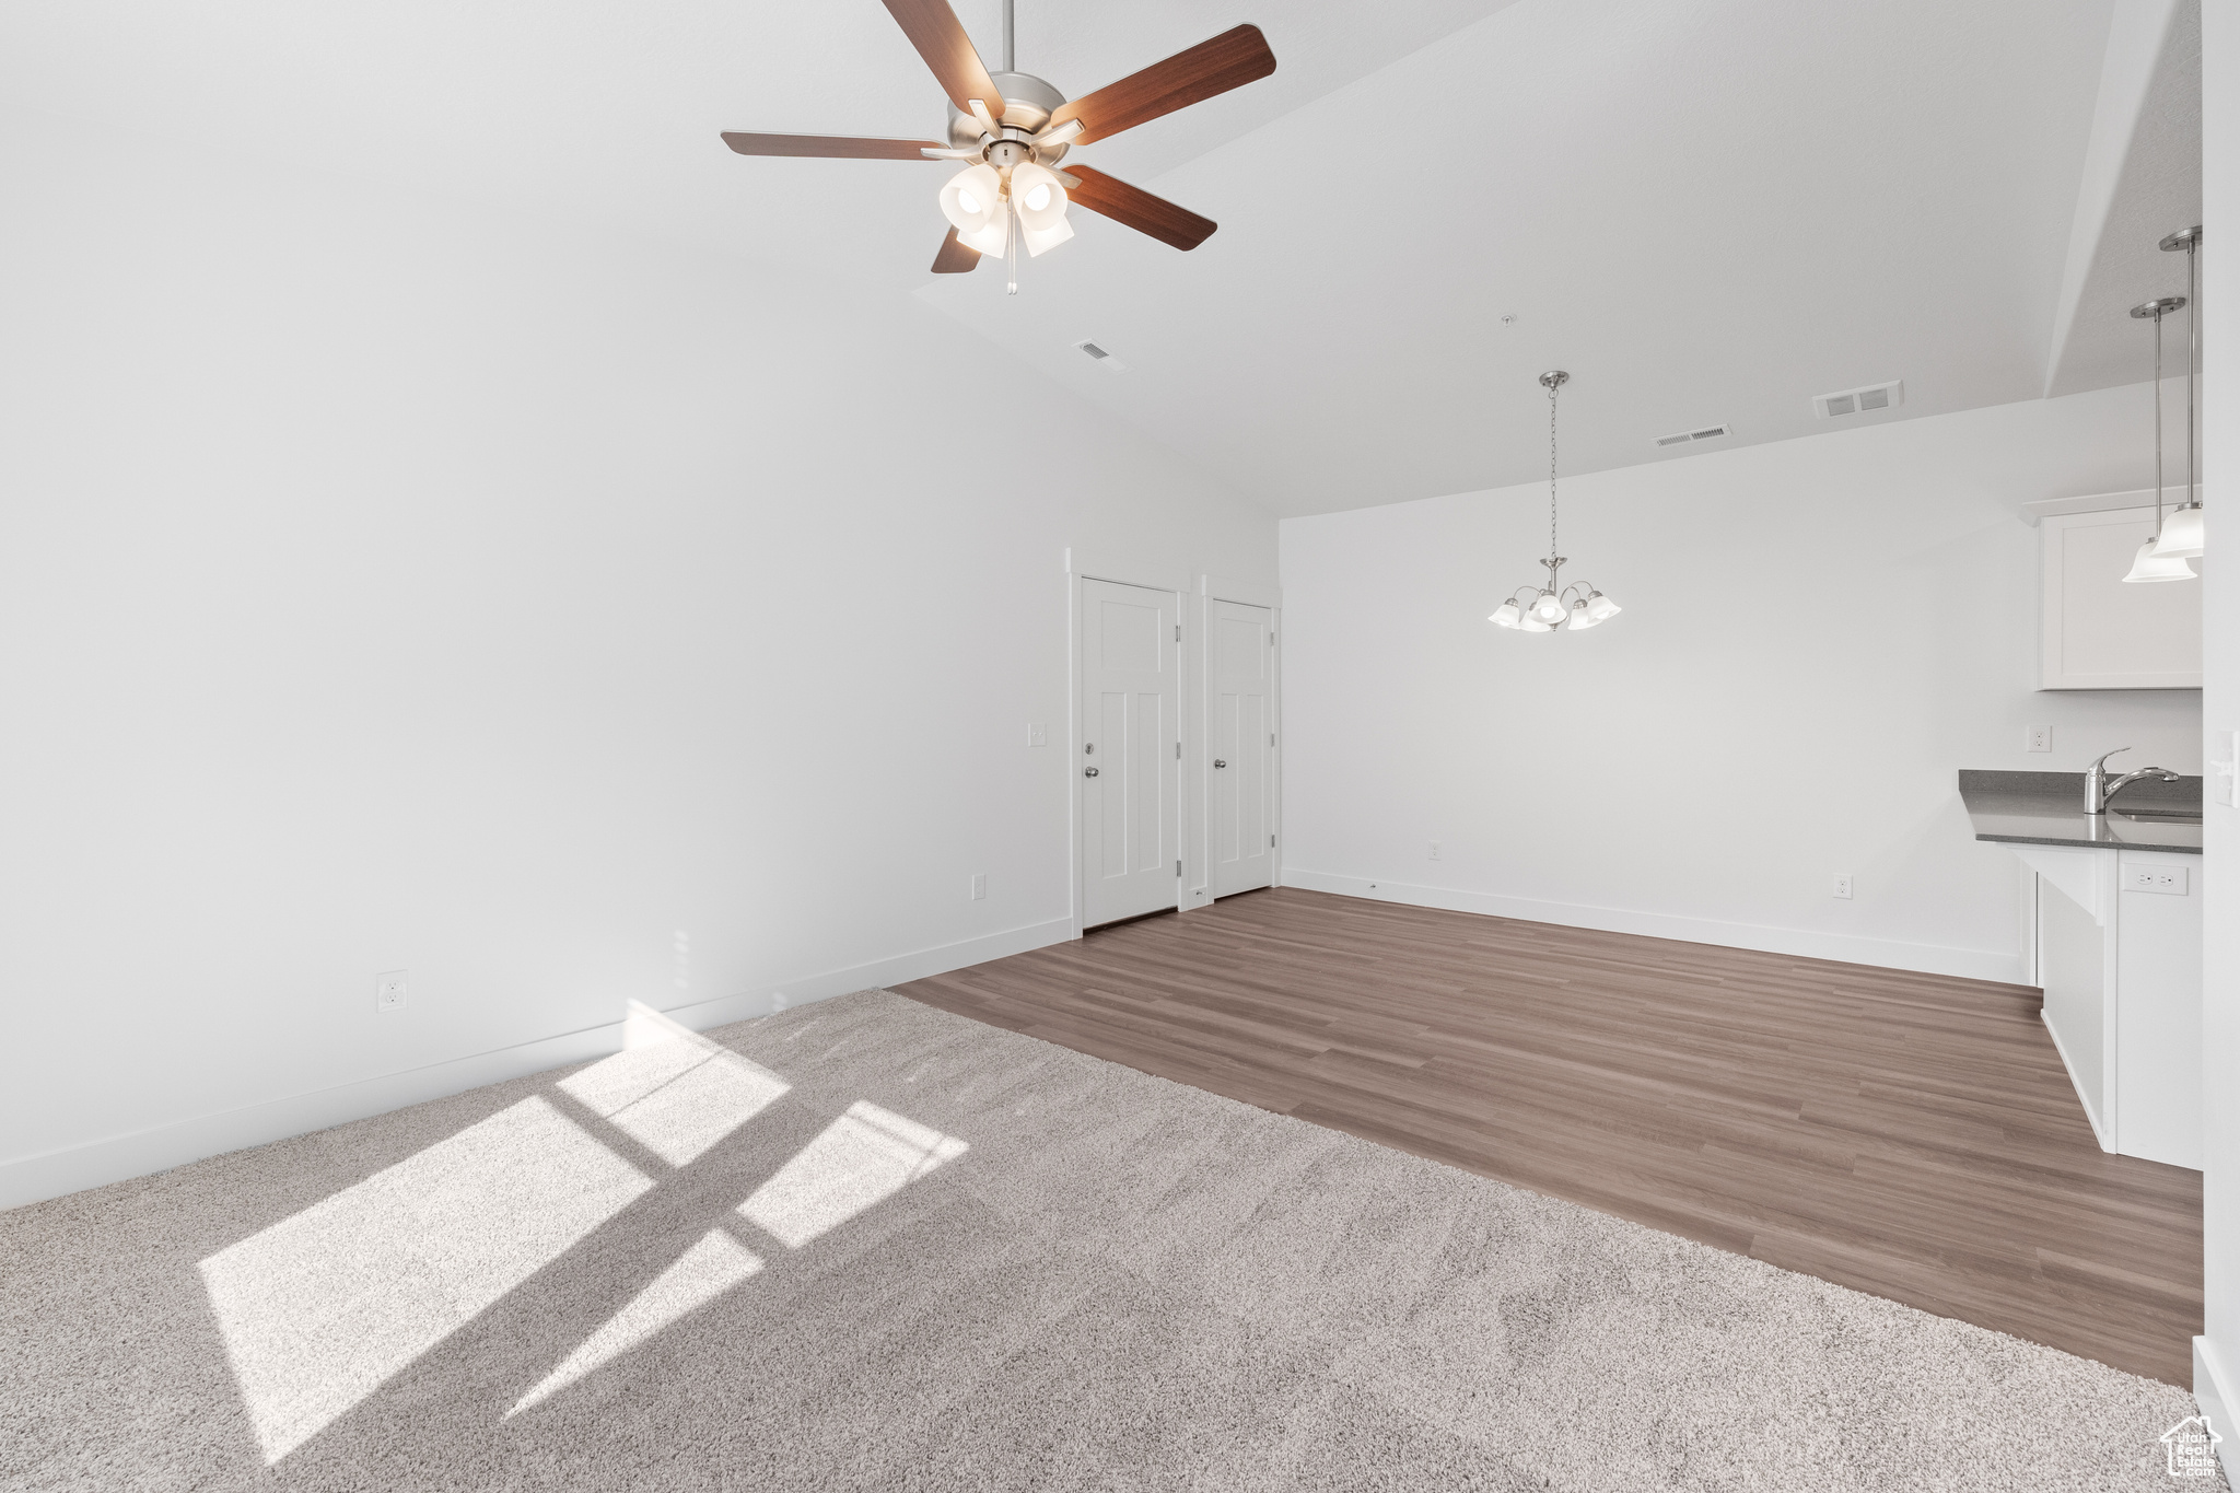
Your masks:
{"label": "white panelled door nearer the carpet, left of the other door", "polygon": [[1082,582],[1082,927],[1180,902],[1176,602]]}

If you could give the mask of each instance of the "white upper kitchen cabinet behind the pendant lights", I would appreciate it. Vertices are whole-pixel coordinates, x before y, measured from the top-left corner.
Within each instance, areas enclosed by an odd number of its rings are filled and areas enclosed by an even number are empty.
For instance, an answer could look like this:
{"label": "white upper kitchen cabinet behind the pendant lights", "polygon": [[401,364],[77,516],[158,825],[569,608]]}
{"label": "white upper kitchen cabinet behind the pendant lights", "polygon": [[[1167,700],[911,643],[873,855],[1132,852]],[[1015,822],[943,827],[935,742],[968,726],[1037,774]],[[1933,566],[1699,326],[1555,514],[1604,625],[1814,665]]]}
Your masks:
{"label": "white upper kitchen cabinet behind the pendant lights", "polygon": [[2202,582],[2124,582],[2153,535],[2153,508],[2038,517],[2038,689],[2202,687]]}

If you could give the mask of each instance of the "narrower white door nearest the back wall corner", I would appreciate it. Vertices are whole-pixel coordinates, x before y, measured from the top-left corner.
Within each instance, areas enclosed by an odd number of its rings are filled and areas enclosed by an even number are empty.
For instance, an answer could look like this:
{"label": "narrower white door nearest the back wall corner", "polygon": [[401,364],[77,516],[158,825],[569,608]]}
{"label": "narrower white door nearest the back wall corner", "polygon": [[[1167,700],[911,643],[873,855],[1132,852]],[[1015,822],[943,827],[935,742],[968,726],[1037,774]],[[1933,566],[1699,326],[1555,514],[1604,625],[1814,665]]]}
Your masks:
{"label": "narrower white door nearest the back wall corner", "polygon": [[1214,602],[1214,895],[1275,882],[1275,613]]}

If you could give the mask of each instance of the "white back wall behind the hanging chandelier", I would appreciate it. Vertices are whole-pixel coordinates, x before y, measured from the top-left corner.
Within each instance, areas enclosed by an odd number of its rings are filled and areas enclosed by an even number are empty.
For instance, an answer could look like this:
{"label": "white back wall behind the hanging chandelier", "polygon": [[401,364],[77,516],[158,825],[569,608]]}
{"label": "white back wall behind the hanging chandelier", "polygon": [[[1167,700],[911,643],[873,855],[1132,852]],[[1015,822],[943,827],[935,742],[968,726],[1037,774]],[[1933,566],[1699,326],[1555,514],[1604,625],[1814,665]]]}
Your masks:
{"label": "white back wall behind the hanging chandelier", "polygon": [[[1546,483],[1286,519],[1284,880],[2020,978],[2020,875],[1971,839],[1956,770],[2202,763],[2197,692],[2032,689],[2016,504],[2150,486],[2148,401],[1566,479],[1566,578],[1626,607],[1579,636],[1485,620],[1546,575]],[[1564,419],[1595,419],[1590,374]],[[2025,754],[2034,723],[2052,754]]]}

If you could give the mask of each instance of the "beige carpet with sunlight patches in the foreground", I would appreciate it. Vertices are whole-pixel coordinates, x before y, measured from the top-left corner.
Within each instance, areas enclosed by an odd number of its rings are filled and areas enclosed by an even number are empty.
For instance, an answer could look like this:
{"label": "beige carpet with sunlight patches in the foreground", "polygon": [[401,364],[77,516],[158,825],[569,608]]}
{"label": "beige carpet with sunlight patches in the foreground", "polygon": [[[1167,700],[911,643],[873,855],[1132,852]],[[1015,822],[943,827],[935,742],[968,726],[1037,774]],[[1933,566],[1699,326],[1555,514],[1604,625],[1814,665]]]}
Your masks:
{"label": "beige carpet with sunlight patches in the foreground", "polygon": [[887,992],[0,1213],[7,1489],[2173,1489],[2175,1388]]}

